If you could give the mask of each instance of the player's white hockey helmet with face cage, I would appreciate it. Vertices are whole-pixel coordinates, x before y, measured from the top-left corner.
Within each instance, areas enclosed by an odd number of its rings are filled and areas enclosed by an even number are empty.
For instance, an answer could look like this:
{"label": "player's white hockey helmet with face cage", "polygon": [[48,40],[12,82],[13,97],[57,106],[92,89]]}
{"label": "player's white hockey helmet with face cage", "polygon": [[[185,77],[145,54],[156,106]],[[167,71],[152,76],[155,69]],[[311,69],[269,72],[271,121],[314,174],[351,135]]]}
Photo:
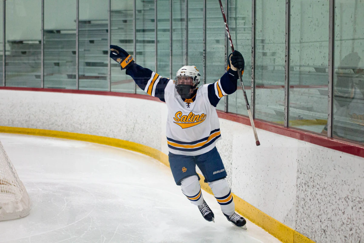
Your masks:
{"label": "player's white hockey helmet with face cage", "polygon": [[175,87],[182,98],[188,97],[197,88],[201,74],[195,66],[183,66],[177,71]]}

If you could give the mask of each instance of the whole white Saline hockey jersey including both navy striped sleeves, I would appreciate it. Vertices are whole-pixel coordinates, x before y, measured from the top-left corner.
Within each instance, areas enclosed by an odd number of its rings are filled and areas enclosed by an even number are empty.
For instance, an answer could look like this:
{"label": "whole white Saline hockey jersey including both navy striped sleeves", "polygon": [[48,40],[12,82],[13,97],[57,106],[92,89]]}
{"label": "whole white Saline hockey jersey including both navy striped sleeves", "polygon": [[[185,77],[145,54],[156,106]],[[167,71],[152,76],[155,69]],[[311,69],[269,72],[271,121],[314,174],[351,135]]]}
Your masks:
{"label": "whole white Saline hockey jersey including both navy striped sleeves", "polygon": [[237,89],[237,72],[227,71],[221,79],[202,85],[191,99],[183,100],[174,80],[132,64],[126,71],[147,94],[166,102],[168,108],[166,136],[169,152],[195,156],[209,152],[221,139],[216,105]]}

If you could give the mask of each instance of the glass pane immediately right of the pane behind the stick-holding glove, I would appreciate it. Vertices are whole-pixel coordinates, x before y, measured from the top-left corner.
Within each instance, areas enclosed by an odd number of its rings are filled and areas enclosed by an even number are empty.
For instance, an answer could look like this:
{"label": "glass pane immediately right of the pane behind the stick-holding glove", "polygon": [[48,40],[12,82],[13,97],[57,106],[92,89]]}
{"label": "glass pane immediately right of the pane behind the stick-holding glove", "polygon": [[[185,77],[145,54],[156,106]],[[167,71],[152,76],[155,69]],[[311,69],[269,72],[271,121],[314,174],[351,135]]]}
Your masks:
{"label": "glass pane immediately right of the pane behind the stick-holding glove", "polygon": [[256,1],[255,38],[255,117],[283,124],[285,1]]}

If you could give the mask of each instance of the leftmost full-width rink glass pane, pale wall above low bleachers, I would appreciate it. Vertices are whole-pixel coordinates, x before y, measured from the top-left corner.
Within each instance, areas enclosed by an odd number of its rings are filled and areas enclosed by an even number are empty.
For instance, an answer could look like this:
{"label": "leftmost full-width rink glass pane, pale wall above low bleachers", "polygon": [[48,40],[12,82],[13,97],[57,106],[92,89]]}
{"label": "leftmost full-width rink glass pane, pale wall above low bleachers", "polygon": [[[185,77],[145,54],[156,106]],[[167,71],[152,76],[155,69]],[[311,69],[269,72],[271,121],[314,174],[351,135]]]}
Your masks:
{"label": "leftmost full-width rink glass pane, pale wall above low bleachers", "polygon": [[5,82],[41,87],[41,0],[5,1]]}

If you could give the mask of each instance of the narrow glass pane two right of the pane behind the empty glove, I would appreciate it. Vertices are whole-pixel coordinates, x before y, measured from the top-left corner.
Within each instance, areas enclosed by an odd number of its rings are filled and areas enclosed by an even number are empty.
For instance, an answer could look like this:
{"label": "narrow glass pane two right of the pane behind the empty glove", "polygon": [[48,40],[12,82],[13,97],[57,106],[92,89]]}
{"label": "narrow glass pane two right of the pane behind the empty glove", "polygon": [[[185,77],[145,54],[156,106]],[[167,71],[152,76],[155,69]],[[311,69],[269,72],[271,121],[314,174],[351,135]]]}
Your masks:
{"label": "narrow glass pane two right of the pane behind the empty glove", "polygon": [[157,1],[157,72],[162,77],[170,77],[170,36],[169,36],[169,0]]}

